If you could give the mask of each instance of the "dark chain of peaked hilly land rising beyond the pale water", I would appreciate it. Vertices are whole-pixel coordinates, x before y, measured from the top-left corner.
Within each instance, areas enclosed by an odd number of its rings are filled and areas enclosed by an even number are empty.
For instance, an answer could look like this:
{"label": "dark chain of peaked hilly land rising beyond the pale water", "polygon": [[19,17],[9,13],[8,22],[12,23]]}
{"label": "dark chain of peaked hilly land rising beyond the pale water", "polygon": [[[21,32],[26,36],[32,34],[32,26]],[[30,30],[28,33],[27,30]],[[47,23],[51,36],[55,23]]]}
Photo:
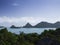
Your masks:
{"label": "dark chain of peaked hilly land rising beyond the pale water", "polygon": [[[12,25],[10,28],[21,28],[21,27],[16,27]],[[27,23],[22,28],[60,28],[60,22],[48,23],[48,22],[43,21],[34,26],[32,26],[30,23]]]}

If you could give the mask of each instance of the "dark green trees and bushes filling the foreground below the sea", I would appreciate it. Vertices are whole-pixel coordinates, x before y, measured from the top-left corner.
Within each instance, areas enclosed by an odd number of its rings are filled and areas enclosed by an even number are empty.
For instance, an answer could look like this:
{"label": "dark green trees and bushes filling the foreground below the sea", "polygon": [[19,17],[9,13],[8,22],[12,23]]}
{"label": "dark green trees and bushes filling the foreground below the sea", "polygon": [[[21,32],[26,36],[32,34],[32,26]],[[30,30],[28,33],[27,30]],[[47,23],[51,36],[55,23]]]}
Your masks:
{"label": "dark green trees and bushes filling the foreground below the sea", "polygon": [[4,28],[0,30],[0,45],[60,45],[60,28],[44,30],[41,34],[14,34]]}

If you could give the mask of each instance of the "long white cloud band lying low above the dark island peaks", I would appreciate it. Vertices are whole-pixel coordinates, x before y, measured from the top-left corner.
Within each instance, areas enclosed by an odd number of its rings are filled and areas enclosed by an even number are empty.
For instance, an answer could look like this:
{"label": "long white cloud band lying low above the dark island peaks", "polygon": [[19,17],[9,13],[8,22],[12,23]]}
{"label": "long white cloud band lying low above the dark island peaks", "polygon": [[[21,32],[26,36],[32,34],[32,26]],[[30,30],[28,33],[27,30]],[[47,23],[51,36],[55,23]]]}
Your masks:
{"label": "long white cloud band lying low above the dark island peaks", "polygon": [[[55,18],[55,21],[57,18]],[[54,19],[53,19],[54,20]],[[3,16],[3,17],[0,17],[0,24],[14,24],[14,25],[19,25],[19,26],[22,26],[22,25],[25,25],[27,22],[29,22],[30,24],[32,25],[35,25],[41,21],[49,21],[49,22],[53,22],[53,20],[50,18],[41,18],[41,17],[6,17],[6,16]],[[5,24],[6,23],[6,24]]]}

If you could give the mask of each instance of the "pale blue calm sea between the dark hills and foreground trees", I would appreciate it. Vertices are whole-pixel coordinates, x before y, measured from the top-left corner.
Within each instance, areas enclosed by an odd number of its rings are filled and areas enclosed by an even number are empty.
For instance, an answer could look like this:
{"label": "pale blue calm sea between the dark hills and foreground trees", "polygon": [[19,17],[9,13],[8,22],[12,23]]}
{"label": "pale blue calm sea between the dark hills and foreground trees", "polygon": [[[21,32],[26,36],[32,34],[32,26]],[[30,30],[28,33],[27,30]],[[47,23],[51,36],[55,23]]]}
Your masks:
{"label": "pale blue calm sea between the dark hills and foreground trees", "polygon": [[19,34],[20,32],[41,34],[44,30],[56,29],[56,28],[19,28],[19,29],[7,28],[7,29],[9,32],[12,32],[15,34]]}

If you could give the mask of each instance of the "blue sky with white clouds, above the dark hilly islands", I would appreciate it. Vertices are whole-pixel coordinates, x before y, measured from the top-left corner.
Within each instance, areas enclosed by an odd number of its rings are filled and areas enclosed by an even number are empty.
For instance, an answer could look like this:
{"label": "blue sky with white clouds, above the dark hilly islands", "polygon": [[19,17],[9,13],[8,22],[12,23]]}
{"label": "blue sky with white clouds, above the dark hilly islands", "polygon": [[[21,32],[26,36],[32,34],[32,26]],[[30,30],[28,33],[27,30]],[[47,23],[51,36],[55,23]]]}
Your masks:
{"label": "blue sky with white clouds, above the dark hilly islands", "polygon": [[60,0],[0,0],[0,25],[36,25],[60,21]]}

